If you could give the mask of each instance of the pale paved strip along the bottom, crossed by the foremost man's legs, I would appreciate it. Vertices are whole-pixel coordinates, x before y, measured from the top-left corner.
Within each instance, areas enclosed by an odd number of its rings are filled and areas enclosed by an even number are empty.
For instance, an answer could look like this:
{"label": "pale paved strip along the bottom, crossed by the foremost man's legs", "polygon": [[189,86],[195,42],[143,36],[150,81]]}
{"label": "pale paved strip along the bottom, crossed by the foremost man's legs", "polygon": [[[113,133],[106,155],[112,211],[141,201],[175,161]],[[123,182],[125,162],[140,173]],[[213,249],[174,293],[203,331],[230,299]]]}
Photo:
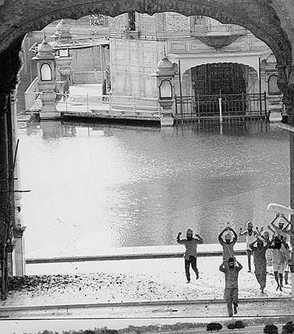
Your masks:
{"label": "pale paved strip along the bottom, crossed by the foremost man's legs", "polygon": [[[249,317],[292,316],[291,300],[282,298],[241,299],[236,319]],[[88,303],[0,307],[1,318],[182,318],[226,317],[222,300],[153,301],[130,303]]]}

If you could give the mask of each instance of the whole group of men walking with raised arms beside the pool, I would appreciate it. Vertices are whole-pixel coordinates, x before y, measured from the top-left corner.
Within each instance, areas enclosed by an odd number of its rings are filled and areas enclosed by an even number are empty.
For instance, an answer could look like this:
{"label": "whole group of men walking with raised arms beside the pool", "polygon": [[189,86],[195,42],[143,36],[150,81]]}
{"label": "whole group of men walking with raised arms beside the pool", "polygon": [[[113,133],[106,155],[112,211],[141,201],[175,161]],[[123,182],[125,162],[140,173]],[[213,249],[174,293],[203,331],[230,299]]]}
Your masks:
{"label": "whole group of men walking with raised arms beside the pool", "polygon": [[[278,221],[278,225],[275,222]],[[277,282],[276,290],[283,287],[283,278],[285,284],[288,284],[289,265],[288,261],[291,257],[290,238],[294,238],[291,231],[291,223],[282,214],[276,214],[275,218],[268,225],[268,230],[264,228],[253,229],[252,222],[247,222],[246,230],[240,228],[240,236],[246,237],[246,252],[248,272],[251,272],[251,257],[253,256],[254,273],[260,285],[261,292],[264,293],[267,281],[267,273],[271,273],[271,267],[274,278]],[[190,283],[190,266],[199,278],[197,269],[197,245],[203,244],[203,239],[199,234],[193,237],[192,229],[186,231],[186,238],[181,239],[181,232],[178,233],[176,241],[185,245],[185,273],[187,283]],[[237,261],[234,246],[237,242],[238,235],[234,229],[228,225],[219,235],[219,242],[222,246],[222,263],[219,270],[225,275],[224,298],[226,300],[229,316],[237,313],[238,307],[238,275],[243,268]],[[283,277],[284,275],[284,277]]]}

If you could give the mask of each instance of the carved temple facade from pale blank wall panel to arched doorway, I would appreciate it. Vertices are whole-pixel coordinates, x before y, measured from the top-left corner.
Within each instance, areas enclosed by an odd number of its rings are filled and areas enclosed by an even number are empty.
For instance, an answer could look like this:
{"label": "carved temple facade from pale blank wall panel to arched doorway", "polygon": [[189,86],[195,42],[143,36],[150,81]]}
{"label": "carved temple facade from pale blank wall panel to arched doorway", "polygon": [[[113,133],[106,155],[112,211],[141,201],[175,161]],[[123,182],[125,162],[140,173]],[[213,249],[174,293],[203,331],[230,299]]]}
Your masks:
{"label": "carved temple facade from pale blank wall panel to arched doorway", "polygon": [[110,19],[109,31],[113,95],[157,97],[152,74],[166,52],[178,66],[177,96],[266,92],[269,107],[281,108],[275,57],[245,28],[205,16],[132,12]]}

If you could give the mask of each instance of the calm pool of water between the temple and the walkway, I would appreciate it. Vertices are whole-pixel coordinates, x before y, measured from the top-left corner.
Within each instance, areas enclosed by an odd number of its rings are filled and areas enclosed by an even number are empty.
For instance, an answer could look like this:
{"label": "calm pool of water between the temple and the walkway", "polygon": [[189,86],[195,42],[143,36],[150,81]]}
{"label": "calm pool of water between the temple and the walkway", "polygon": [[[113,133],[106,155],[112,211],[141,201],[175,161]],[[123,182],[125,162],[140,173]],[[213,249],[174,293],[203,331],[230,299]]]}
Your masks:
{"label": "calm pool of water between the temple and the walkway", "polygon": [[[173,129],[19,120],[27,256],[173,245],[192,227],[267,225],[289,205],[289,135],[272,124]],[[244,241],[244,239],[241,239]]]}

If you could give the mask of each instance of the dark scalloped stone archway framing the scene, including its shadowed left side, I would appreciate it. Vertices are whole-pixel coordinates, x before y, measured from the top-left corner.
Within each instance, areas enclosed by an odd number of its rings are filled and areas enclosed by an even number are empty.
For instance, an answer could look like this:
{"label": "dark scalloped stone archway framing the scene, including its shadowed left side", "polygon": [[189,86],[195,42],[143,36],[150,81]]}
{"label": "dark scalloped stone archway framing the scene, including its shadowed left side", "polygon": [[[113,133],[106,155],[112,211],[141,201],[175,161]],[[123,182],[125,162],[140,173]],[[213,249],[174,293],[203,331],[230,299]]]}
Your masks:
{"label": "dark scalloped stone archway framing the scene, including its shadowed left side", "polygon": [[[116,16],[138,11],[147,14],[174,11],[212,17],[250,30],[264,41],[277,59],[279,86],[288,112],[294,114],[294,8],[293,0],[0,0],[0,261],[3,268],[11,221],[13,193],[13,140],[11,94],[21,67],[19,52],[25,34],[61,18],[77,19],[91,13]],[[294,139],[293,139],[294,150]],[[294,169],[294,166],[293,166]],[[294,189],[294,178],[292,180]],[[294,205],[294,201],[292,203]],[[9,213],[10,212],[10,213]],[[8,226],[9,227],[9,226]],[[5,298],[2,280],[2,298]]]}

